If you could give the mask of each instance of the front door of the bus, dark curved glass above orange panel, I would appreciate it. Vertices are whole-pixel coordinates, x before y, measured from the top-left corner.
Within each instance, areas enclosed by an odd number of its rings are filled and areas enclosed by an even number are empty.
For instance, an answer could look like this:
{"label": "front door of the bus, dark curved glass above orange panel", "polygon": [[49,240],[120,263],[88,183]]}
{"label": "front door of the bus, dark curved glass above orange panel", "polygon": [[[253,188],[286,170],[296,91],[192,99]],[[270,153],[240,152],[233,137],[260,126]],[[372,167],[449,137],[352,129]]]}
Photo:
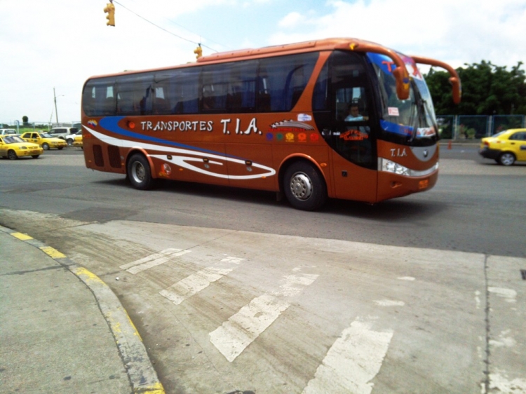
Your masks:
{"label": "front door of the bus, dark curved glass above orange panel", "polygon": [[377,193],[373,127],[377,116],[366,71],[363,56],[332,53],[318,78],[313,109],[318,130],[332,148],[332,197],[373,202]]}

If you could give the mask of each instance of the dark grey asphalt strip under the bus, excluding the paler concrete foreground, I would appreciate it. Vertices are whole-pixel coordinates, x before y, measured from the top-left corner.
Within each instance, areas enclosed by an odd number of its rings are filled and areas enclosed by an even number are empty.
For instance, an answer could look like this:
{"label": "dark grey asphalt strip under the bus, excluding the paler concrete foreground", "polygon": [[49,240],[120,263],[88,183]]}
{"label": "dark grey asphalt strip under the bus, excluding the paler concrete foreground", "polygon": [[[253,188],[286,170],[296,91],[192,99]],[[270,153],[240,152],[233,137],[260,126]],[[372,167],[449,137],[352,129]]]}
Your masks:
{"label": "dark grey asphalt strip under the bus, excluding the paler concrete foreground", "polygon": [[[438,184],[426,193],[374,206],[333,200],[319,212],[301,212],[264,191],[186,182],[136,191],[122,175],[83,168],[80,149],[65,149],[0,161],[0,207],[81,221],[130,219],[526,257],[526,165],[505,168],[476,151],[443,147]],[[60,246],[52,237],[45,241]]]}

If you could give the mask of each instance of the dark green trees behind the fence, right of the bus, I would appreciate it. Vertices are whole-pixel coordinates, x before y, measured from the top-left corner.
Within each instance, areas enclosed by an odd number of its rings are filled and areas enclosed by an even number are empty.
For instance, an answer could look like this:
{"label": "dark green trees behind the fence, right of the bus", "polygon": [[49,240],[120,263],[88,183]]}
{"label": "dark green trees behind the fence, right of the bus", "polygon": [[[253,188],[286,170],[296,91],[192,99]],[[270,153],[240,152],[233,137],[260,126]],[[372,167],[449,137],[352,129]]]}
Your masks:
{"label": "dark green trees behind the fence, right of the bus", "polygon": [[438,115],[526,114],[526,76],[518,62],[511,70],[483,60],[457,69],[462,98],[453,104],[449,73],[431,68],[425,76]]}

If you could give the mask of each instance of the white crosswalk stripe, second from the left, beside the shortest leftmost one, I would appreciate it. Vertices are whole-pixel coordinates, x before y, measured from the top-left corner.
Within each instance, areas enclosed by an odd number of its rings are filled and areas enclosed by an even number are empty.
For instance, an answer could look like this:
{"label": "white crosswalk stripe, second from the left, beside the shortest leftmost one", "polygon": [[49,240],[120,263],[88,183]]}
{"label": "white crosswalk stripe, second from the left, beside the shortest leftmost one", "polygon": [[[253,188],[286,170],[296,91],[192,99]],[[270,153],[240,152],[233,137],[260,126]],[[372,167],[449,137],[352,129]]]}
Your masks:
{"label": "white crosswalk stripe, second from the left, beside the shortest leftmost one", "polygon": [[187,276],[187,278],[171,285],[168,289],[162,290],[159,294],[172,301],[175,305],[179,305],[185,299],[208,287],[210,283],[231,273],[243,260],[238,257],[226,257],[220,261],[220,264],[207,267]]}

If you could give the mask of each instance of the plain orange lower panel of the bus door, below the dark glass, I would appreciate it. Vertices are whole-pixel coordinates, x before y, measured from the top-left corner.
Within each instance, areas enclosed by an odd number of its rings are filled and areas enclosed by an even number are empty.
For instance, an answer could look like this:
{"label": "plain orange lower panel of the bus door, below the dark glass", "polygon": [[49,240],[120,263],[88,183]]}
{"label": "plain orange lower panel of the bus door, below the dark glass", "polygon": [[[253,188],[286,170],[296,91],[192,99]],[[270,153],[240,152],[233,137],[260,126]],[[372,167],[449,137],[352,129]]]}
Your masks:
{"label": "plain orange lower panel of the bus door, below the dark glass", "polygon": [[334,197],[374,203],[377,195],[378,172],[345,160],[331,149]]}

